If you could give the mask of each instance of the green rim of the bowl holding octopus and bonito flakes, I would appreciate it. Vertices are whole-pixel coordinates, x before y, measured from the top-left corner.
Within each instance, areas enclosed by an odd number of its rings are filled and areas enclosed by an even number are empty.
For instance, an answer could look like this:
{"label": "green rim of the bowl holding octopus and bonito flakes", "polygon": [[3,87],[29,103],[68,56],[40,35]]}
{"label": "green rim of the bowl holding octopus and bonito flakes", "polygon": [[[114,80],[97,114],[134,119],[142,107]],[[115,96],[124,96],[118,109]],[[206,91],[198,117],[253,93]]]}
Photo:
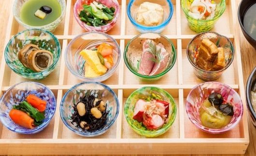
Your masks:
{"label": "green rim of the bowl holding octopus and bonito flakes", "polygon": [[[167,127],[165,127],[165,128],[160,128],[160,129],[158,129],[158,130],[152,130],[152,131],[145,131],[145,130],[141,130],[141,129],[139,129],[139,128],[137,128],[136,126],[134,126],[133,124],[130,124],[129,122],[128,122],[128,120],[134,120],[134,119],[132,119],[132,118],[130,118],[129,119],[129,117],[127,116],[127,114],[126,114],[126,108],[127,108],[127,106],[126,105],[130,105],[130,104],[128,104],[127,102],[128,102],[128,99],[132,96],[132,95],[134,95],[135,93],[137,93],[137,91],[140,91],[140,90],[144,90],[144,89],[147,89],[147,88],[154,88],[154,89],[158,89],[158,90],[161,90],[161,91],[163,91],[164,93],[166,93],[169,97],[168,97],[168,99],[170,99],[170,101],[171,102],[173,102],[173,106],[174,106],[174,111],[172,112],[172,114],[174,114],[174,117],[172,118],[172,119],[170,119],[169,120],[169,125],[167,126]],[[169,104],[169,105],[172,105],[172,104]],[[169,109],[171,109],[170,107],[169,107]],[[147,133],[147,134],[157,134],[157,133],[160,133],[160,135],[161,134],[163,134],[163,133],[165,133],[167,130],[169,130],[170,128],[171,128],[171,125],[174,123],[174,121],[175,121],[175,119],[176,119],[176,116],[177,116],[177,104],[175,103],[175,100],[173,99],[173,97],[171,96],[171,94],[169,93],[169,92],[167,92],[167,91],[165,91],[164,89],[161,89],[161,88],[158,88],[158,87],[154,87],[154,86],[145,86],[145,87],[142,87],[142,88],[139,88],[139,89],[137,89],[137,90],[135,90],[135,91],[133,91],[129,96],[128,96],[128,98],[127,98],[127,100],[126,100],[126,102],[125,102],[125,104],[124,104],[124,115],[125,115],[125,118],[126,118],[126,121],[128,122],[128,125],[133,129],[133,130],[135,130],[136,132],[137,131],[140,131],[140,132],[144,132],[144,133]],[[169,116],[171,116],[170,114],[169,114]],[[167,124],[167,123],[166,123]],[[141,135],[141,134],[140,134]]]}

